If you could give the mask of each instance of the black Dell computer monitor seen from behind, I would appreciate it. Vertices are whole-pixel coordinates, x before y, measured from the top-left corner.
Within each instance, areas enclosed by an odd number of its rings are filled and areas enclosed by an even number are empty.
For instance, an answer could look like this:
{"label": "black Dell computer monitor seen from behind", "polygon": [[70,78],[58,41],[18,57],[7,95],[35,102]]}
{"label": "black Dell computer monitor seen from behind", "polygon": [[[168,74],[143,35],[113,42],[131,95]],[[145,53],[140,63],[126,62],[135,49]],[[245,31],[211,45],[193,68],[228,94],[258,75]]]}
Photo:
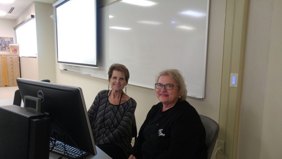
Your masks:
{"label": "black Dell computer monitor seen from behind", "polygon": [[96,155],[89,118],[80,87],[18,78],[24,96],[41,98],[41,112],[52,119],[50,135],[81,151]]}

